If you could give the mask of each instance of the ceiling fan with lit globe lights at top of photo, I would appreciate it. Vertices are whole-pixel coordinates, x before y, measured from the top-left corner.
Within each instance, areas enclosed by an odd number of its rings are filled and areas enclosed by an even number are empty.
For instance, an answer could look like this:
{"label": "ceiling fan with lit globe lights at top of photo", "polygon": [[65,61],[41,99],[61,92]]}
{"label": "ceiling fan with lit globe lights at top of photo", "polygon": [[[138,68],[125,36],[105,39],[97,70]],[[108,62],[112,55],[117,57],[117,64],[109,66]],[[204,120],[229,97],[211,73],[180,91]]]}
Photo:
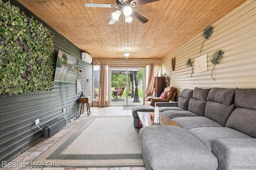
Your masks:
{"label": "ceiling fan with lit globe lights at top of photo", "polygon": [[132,17],[136,18],[143,24],[148,22],[148,19],[132,10],[131,7],[136,7],[143,4],[148,4],[159,0],[116,0],[117,5],[113,4],[93,4],[93,3],[84,3],[86,7],[97,7],[97,8],[120,8],[116,12],[112,13],[112,19],[108,22],[109,25],[115,24],[119,16],[124,13],[125,22],[131,22]]}

